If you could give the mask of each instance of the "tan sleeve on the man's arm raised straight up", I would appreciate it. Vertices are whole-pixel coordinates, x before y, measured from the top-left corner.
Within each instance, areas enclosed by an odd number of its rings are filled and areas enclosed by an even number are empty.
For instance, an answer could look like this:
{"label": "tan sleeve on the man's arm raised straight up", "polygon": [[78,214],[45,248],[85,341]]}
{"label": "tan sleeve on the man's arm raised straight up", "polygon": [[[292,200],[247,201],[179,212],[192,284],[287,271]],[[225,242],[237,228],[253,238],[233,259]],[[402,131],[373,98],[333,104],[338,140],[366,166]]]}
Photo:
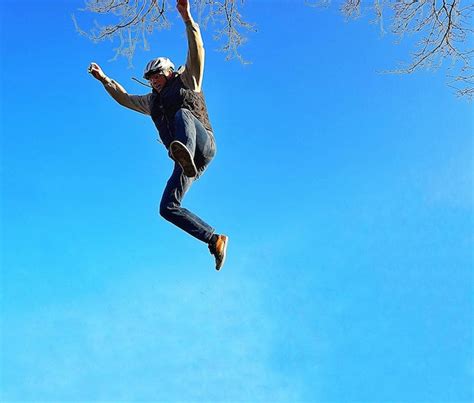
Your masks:
{"label": "tan sleeve on the man's arm raised straight up", "polygon": [[181,73],[184,84],[195,92],[201,92],[204,74],[204,44],[199,25],[194,21],[186,22],[188,38],[188,57]]}

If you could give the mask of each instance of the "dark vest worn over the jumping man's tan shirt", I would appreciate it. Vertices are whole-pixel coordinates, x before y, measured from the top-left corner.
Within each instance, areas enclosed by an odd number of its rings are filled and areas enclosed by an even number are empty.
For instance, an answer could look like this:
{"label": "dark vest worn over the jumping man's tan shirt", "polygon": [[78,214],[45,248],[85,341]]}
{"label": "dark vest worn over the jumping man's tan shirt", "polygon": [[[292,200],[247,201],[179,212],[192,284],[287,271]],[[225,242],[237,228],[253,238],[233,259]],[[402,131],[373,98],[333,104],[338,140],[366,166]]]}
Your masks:
{"label": "dark vest worn over the jumping man's tan shirt", "polygon": [[206,130],[212,132],[202,91],[187,88],[179,74],[174,74],[160,93],[153,90],[150,106],[151,118],[166,148],[174,140],[174,115],[181,108],[188,109]]}

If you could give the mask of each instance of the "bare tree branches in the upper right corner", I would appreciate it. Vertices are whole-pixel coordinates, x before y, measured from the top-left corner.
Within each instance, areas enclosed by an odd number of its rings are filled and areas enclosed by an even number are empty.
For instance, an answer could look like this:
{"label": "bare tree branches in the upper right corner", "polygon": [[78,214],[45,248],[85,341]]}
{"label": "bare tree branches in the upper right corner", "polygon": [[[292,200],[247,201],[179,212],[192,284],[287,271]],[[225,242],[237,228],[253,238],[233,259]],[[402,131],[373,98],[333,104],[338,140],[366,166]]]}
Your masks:
{"label": "bare tree branches in the upper right corner", "polygon": [[[330,1],[318,0],[311,5],[318,6],[322,2],[328,6]],[[468,36],[473,32],[470,19],[474,5],[461,6],[461,0],[390,0],[386,3],[372,0],[364,10],[361,0],[344,0],[341,12],[346,18],[353,19],[364,12],[374,13],[375,20],[384,32],[384,9],[389,12],[391,32],[399,40],[408,36],[419,38],[411,61],[386,72],[411,74],[418,69],[437,69],[449,59],[448,77],[451,81],[448,85],[456,89],[457,95],[472,99],[473,49],[472,41],[468,43]]]}

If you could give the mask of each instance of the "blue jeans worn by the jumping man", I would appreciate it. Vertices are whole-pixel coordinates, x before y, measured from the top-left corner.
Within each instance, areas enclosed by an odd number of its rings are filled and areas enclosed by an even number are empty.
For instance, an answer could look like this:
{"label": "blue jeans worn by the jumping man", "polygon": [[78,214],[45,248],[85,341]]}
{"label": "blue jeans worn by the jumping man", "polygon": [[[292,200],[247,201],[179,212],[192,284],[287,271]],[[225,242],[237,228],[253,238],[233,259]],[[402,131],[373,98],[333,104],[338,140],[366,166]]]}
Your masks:
{"label": "blue jeans worn by the jumping man", "polygon": [[216,153],[214,136],[187,109],[179,109],[175,115],[175,140],[186,145],[193,156],[198,174],[189,178],[183,174],[181,166],[174,163],[173,173],[168,179],[160,203],[160,215],[193,237],[208,243],[214,228],[197,215],[181,207],[184,195],[193,182],[206,170]]}

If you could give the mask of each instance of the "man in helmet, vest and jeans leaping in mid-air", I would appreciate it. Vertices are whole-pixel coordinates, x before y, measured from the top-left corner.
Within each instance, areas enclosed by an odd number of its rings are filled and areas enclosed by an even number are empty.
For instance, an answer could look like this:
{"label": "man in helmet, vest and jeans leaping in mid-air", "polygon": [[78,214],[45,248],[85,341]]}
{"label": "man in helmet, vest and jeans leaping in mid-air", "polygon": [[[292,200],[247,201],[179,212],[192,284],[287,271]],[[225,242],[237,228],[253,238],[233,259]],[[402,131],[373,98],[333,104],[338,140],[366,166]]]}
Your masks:
{"label": "man in helmet, vest and jeans leaping in mid-air", "polygon": [[173,63],[165,57],[150,61],[145,67],[144,78],[152,87],[151,93],[127,94],[96,63],[91,63],[89,72],[119,104],[151,116],[169,156],[174,160],[173,173],[161,199],[160,214],[207,243],[215,257],[216,269],[220,270],[226,258],[228,237],[216,234],[214,228],[181,207],[192,183],[212,161],[216,146],[202,93],[204,47],[199,26],[191,16],[189,0],[178,0],[177,9],[186,25],[186,65],[174,71]]}

